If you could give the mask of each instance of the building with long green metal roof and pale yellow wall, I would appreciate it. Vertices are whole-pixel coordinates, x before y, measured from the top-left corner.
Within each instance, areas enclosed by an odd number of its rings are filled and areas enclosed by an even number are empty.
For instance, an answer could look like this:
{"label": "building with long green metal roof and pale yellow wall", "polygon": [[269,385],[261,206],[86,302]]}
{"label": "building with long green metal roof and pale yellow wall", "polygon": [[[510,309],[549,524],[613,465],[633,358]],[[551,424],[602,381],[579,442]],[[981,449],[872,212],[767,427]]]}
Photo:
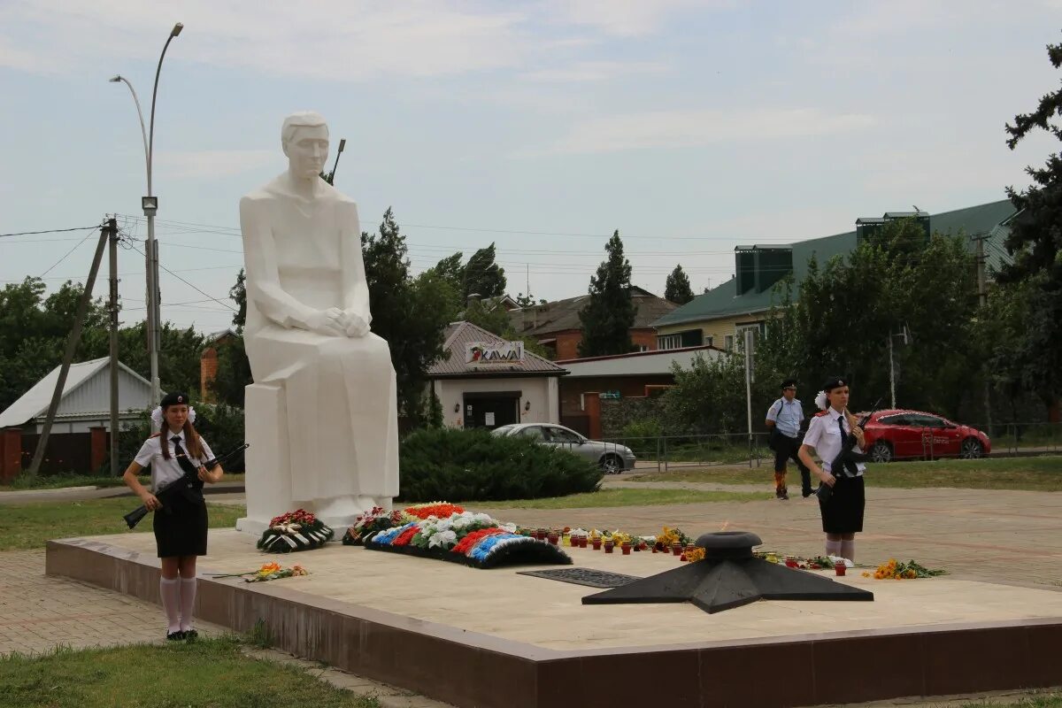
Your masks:
{"label": "building with long green metal roof and pale yellow wall", "polygon": [[793,297],[798,297],[799,284],[807,275],[812,256],[820,264],[834,256],[844,256],[855,249],[860,237],[892,219],[914,217],[923,220],[927,234],[965,234],[970,237],[971,251],[976,248],[977,239],[983,238],[987,269],[991,273],[1008,258],[1004,241],[1014,215],[1014,206],[1009,200],[939,214],[889,211],[880,218],[858,219],[856,229],[844,234],[788,245],[738,246],[734,249],[734,277],[653,322],[657,345],[661,349],[703,344],[732,348],[735,338],[744,329],[763,329],[764,317],[771,308],[771,287],[775,282],[792,273]]}

